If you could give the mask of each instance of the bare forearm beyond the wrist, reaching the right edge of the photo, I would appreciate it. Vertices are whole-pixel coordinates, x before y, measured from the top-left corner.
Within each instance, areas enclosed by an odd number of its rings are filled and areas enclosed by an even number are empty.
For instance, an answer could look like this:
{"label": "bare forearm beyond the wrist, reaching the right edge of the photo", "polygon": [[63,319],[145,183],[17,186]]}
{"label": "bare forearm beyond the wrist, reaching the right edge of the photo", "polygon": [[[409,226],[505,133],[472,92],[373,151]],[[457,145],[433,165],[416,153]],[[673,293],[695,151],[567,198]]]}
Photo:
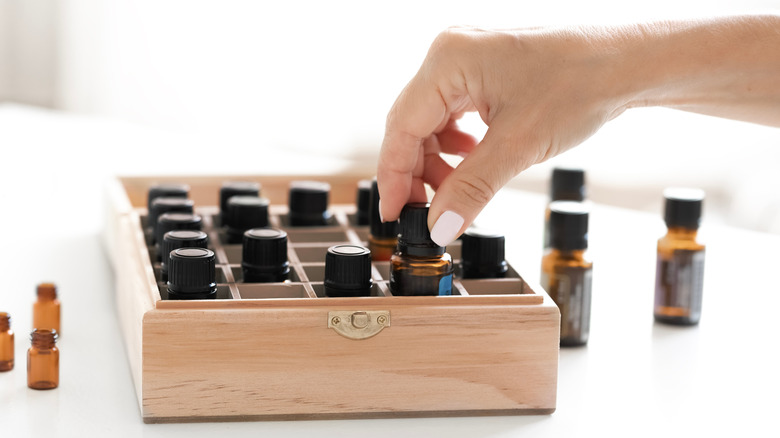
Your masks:
{"label": "bare forearm beyond the wrist, reaching the right edge of the photo", "polygon": [[626,28],[626,107],[666,106],[780,126],[780,15]]}

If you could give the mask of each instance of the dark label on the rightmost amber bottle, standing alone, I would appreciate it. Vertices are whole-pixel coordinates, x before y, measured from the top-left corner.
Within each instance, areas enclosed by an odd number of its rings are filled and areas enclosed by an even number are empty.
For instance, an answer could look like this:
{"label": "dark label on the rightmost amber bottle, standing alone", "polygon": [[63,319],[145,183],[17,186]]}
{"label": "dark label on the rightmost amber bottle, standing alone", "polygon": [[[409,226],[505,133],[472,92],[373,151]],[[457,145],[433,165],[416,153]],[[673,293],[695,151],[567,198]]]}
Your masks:
{"label": "dark label on the rightmost amber bottle, standing alone", "polygon": [[704,251],[676,250],[671,259],[658,255],[655,306],[678,309],[679,315],[698,320],[704,284]]}

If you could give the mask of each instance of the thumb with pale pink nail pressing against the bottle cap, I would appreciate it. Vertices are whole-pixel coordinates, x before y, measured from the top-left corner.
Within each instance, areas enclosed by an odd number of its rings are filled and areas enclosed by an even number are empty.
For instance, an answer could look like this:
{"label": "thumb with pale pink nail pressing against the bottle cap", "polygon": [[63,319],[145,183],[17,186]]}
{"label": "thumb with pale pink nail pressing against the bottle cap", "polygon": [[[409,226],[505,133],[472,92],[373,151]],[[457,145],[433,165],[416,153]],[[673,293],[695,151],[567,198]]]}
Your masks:
{"label": "thumb with pale pink nail pressing against the bottle cap", "polygon": [[496,125],[442,181],[431,200],[428,228],[439,246],[452,243],[501,187],[535,162],[528,158],[536,156],[532,148]]}

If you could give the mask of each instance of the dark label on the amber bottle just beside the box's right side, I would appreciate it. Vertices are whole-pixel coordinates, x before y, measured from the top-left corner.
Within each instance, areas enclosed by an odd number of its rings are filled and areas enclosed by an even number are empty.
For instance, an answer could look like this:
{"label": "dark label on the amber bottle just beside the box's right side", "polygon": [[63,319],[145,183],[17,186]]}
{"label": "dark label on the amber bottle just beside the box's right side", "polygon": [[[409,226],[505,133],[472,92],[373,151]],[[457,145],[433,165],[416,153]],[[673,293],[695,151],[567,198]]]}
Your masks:
{"label": "dark label on the amber bottle just beside the box's right side", "polygon": [[590,333],[590,301],[593,270],[557,267],[543,272],[541,283],[561,311],[561,343],[584,344]]}

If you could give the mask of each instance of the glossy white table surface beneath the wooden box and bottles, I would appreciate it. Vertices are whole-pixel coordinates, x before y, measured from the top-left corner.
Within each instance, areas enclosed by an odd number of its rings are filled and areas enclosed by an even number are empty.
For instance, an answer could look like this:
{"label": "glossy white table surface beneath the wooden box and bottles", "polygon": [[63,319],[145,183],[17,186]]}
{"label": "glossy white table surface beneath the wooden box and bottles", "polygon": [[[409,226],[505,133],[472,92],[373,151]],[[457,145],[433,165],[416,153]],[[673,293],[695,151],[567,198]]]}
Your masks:
{"label": "glossy white table surface beneath the wooden box and bottles", "polygon": [[[114,173],[160,174],[164,166],[126,158],[135,156],[124,154],[127,144],[147,154],[159,146],[144,138],[117,139],[106,132],[84,139],[92,146],[79,147],[69,137],[81,132],[71,130],[74,123],[80,122],[39,115],[31,121],[18,111],[0,111],[0,130],[13,133],[14,146],[2,145],[0,310],[12,314],[17,334],[16,367],[0,373],[2,438],[777,436],[780,236],[705,227],[702,321],[696,327],[663,326],[652,318],[661,219],[600,205],[591,216],[591,340],[584,348],[561,350],[552,415],[144,424],[100,240],[101,190]],[[112,136],[119,146],[108,143]],[[342,164],[333,160],[324,168],[337,171]],[[237,173],[247,173],[249,165],[243,166]],[[204,173],[227,168],[217,163]],[[260,163],[255,168],[258,174],[270,169]],[[508,259],[532,281],[539,275],[544,205],[540,195],[505,190],[480,218],[507,235]],[[44,281],[57,283],[63,303],[61,377],[59,388],[34,391],[26,386],[27,333],[35,286]]]}

